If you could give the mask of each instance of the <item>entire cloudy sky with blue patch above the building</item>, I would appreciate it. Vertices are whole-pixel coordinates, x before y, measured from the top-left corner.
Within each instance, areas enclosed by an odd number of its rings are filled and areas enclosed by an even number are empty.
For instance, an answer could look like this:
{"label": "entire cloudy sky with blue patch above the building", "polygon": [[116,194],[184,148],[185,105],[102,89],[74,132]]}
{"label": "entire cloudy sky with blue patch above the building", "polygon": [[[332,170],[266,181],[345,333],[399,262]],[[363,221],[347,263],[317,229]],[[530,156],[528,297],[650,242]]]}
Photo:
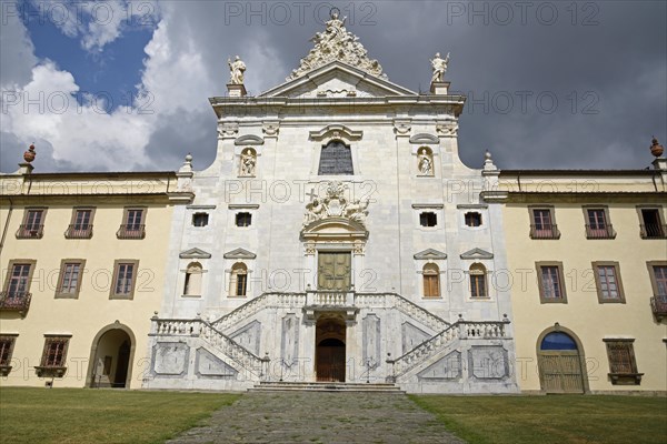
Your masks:
{"label": "entire cloudy sky with blue patch above the building", "polygon": [[667,142],[664,1],[0,0],[0,170],[34,142],[37,171],[206,168],[209,97],[227,58],[257,94],[282,83],[332,6],[389,80],[427,91],[450,52],[468,95],[462,160],[505,169],[627,169]]}

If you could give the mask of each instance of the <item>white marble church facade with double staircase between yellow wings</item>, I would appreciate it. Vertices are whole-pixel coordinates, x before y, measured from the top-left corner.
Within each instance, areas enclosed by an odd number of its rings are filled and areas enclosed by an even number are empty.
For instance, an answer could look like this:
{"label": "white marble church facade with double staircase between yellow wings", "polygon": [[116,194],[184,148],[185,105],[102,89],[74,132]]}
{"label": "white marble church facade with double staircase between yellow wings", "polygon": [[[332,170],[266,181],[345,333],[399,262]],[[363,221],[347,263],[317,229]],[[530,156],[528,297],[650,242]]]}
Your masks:
{"label": "white marble church facade with double staircase between yellow wings", "polygon": [[[195,198],[173,212],[145,386],[322,380],[317,345],[329,340],[345,350],[331,352],[345,362],[332,379],[517,392],[501,212],[479,200],[497,172],[459,160],[465,97],[419,95],[367,65],[301,65],[258,97],[210,99],[217,155],[179,172]],[[331,142],[349,150],[351,173],[320,174]],[[349,254],[342,291],[318,282],[328,252]],[[471,268],[486,272],[481,297]],[[439,278],[436,297],[425,297],[425,273]]]}

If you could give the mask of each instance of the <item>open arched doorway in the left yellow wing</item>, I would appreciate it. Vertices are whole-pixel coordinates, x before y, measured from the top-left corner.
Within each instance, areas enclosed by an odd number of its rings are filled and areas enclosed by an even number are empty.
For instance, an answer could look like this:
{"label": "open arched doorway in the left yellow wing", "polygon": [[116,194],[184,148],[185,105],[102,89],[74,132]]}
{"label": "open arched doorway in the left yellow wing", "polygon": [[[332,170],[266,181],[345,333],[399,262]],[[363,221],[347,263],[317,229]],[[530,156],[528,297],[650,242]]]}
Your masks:
{"label": "open arched doorway in the left yellow wing", "polygon": [[135,335],[120,323],[107,325],[94,336],[86,385],[89,387],[130,386]]}

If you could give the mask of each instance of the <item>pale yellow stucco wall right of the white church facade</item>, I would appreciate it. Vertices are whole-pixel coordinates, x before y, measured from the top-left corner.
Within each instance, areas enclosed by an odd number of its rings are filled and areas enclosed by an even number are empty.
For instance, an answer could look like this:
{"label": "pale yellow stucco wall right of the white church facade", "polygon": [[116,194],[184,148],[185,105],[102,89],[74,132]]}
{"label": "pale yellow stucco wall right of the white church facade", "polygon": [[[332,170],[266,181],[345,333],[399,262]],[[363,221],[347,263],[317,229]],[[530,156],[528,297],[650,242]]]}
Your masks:
{"label": "pale yellow stucco wall right of the white church facade", "polygon": [[[631,191],[631,183],[625,191]],[[649,300],[654,295],[647,261],[667,260],[666,240],[643,240],[636,205],[663,204],[658,195],[614,199],[597,196],[545,195],[554,205],[561,233],[558,240],[532,240],[529,236],[529,204],[508,202],[504,206],[504,225],[508,265],[514,273],[511,289],[514,329],[516,334],[517,380],[522,391],[540,391],[537,365],[538,336],[555,323],[573,331],[580,340],[587,361],[588,384],[597,391],[666,391],[667,390],[667,323],[658,323]],[[617,232],[614,240],[588,240],[585,233],[583,205],[604,204]],[[664,210],[664,209],[663,209]],[[566,304],[541,304],[536,262],[563,262],[567,294]],[[619,263],[625,304],[599,303],[591,262]],[[525,276],[521,279],[521,275]],[[613,385],[603,339],[634,339],[637,370],[644,373],[640,385]]]}

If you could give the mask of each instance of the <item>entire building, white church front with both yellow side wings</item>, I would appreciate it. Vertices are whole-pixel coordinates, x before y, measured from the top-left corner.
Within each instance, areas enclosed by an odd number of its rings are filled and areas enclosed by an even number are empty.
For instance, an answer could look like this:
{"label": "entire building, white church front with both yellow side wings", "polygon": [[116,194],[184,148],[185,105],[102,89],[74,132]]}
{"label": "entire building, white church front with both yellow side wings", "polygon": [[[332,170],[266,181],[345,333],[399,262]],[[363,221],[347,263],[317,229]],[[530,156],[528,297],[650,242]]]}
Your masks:
{"label": "entire building, white church front with both yellow side wings", "polygon": [[[667,159],[479,169],[334,11],[201,171],[0,175],[0,385],[667,393]],[[334,390],[334,389],[331,389]]]}

